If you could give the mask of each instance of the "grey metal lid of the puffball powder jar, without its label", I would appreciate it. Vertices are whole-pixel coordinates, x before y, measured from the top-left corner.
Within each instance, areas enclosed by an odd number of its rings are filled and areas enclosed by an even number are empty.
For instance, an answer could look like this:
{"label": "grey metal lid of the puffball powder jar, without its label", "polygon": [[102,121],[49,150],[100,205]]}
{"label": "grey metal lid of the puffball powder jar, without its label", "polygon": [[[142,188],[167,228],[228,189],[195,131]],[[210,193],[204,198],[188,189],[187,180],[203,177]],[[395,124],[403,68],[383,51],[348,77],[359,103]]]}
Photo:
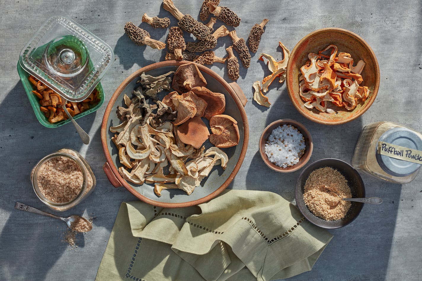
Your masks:
{"label": "grey metal lid of the puffball powder jar, without its label", "polygon": [[[422,150],[422,139],[420,135],[417,132],[404,127],[393,128],[384,132],[378,141],[408,147],[410,149]],[[396,177],[409,176],[421,168],[420,164],[395,159],[386,155],[381,155],[377,152],[376,160],[386,173]]]}

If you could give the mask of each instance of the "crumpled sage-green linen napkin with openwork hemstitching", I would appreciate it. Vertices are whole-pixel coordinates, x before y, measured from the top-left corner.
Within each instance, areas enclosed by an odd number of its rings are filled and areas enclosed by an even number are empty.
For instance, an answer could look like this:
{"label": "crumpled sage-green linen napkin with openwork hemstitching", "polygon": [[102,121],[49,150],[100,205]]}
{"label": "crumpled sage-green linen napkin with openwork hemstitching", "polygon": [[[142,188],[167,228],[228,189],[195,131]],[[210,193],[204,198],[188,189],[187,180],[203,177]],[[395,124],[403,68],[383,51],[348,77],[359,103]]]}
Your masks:
{"label": "crumpled sage-green linen napkin with openwork hemstitching", "polygon": [[124,202],[95,280],[288,278],[311,270],[332,237],[273,192],[226,190],[173,209]]}

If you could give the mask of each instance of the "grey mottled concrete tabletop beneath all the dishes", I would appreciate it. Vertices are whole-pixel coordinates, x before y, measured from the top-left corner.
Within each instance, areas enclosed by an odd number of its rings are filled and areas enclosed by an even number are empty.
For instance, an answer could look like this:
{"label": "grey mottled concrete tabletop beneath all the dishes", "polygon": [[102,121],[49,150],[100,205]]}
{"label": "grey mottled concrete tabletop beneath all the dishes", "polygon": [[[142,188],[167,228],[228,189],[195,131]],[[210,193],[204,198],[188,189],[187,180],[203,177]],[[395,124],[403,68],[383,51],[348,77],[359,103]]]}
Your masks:
{"label": "grey mottled concrete tabletop beneath all the dishes", "polygon": [[[174,0],[183,13],[196,17],[202,1]],[[251,67],[241,67],[238,84],[248,97],[249,149],[243,166],[231,184],[233,189],[269,190],[294,200],[300,171],[280,174],[270,170],[257,152],[260,132],[270,122],[292,118],[305,124],[314,139],[310,162],[335,157],[350,162],[361,128],[368,123],[390,120],[422,130],[420,78],[422,76],[422,2],[394,1],[270,1],[222,0],[242,18],[236,28],[247,37],[254,23],[270,19],[259,52],[281,58],[282,41],[290,50],[306,34],[322,27],[342,27],[364,38],[375,52],[381,84],[375,103],[360,118],[344,125],[327,127],[303,118],[293,108],[285,84],[271,85],[269,109],[252,100],[252,83],[268,70],[252,57]],[[0,280],[93,280],[122,201],[135,198],[108,182],[100,142],[100,124],[106,104],[125,77],[133,71],[162,60],[164,51],[135,46],[123,26],[140,24],[144,12],[169,16],[160,1],[89,0],[0,0]],[[51,14],[63,13],[106,41],[116,61],[102,84],[106,102],[96,113],[78,122],[92,139],[81,143],[71,124],[47,129],[38,123],[16,71],[22,47]],[[218,27],[221,22],[217,22]],[[155,39],[165,40],[168,30],[142,26]],[[219,40],[216,54],[225,56],[230,38]],[[211,69],[227,78],[222,65]],[[97,188],[75,208],[62,213],[93,213],[94,229],[79,235],[79,247],[70,250],[62,242],[65,224],[54,219],[14,209],[16,201],[48,211],[32,191],[29,181],[33,165],[62,147],[81,151],[97,176]],[[367,195],[384,199],[381,205],[365,205],[348,226],[332,230],[334,238],[314,269],[291,280],[422,280],[422,176],[407,185],[385,184],[363,176]],[[280,253],[282,255],[283,253]]]}

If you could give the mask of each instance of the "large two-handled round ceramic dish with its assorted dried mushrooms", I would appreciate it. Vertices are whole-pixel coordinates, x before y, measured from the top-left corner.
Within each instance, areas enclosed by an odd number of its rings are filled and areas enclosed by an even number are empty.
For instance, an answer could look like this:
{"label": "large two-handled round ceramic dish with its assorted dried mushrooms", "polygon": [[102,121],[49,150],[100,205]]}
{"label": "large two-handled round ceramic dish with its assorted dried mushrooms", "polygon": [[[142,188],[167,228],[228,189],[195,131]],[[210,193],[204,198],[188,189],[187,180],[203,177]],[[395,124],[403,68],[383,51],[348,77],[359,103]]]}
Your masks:
{"label": "large two-handled round ceramic dish with its assorted dried mushrooms", "polygon": [[240,87],[186,61],[148,65],[126,78],[106,108],[104,171],[147,203],[206,202],[233,180],[249,130]]}

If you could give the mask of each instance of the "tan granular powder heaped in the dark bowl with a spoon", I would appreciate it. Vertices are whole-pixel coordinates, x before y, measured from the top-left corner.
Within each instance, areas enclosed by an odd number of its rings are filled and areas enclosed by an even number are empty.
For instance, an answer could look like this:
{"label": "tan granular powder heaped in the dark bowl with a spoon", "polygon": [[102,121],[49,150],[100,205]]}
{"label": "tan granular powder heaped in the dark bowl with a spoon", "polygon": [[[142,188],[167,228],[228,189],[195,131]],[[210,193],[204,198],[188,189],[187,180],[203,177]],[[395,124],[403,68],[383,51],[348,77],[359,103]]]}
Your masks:
{"label": "tan granular powder heaped in the dark bowl with a spoon", "polygon": [[[338,196],[328,192],[334,192]],[[343,219],[351,203],[341,198],[352,198],[346,178],[330,167],[319,168],[309,174],[303,199],[309,211],[327,221]]]}

